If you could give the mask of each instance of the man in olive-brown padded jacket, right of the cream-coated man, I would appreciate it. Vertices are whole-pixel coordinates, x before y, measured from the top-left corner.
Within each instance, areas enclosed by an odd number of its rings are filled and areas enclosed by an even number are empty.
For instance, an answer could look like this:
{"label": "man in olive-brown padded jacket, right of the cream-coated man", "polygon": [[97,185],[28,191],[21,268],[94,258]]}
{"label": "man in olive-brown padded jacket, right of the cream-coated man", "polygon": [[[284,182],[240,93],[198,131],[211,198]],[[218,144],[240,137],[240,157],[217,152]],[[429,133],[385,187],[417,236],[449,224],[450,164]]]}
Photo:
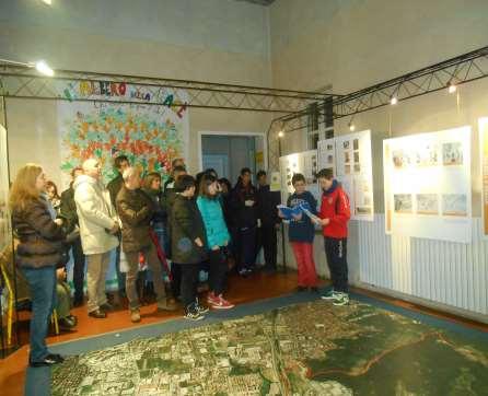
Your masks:
{"label": "man in olive-brown padded jacket, right of the cream-coated man", "polygon": [[123,223],[123,249],[128,263],[126,292],[129,299],[130,321],[136,323],[141,319],[136,290],[140,253],[144,255],[152,271],[154,289],[158,294],[158,308],[174,311],[175,306],[166,300],[161,263],[156,249],[149,238],[150,222],[154,212],[153,202],[140,188],[141,179],[137,168],[126,168],[123,177],[124,185],[117,195],[116,205]]}

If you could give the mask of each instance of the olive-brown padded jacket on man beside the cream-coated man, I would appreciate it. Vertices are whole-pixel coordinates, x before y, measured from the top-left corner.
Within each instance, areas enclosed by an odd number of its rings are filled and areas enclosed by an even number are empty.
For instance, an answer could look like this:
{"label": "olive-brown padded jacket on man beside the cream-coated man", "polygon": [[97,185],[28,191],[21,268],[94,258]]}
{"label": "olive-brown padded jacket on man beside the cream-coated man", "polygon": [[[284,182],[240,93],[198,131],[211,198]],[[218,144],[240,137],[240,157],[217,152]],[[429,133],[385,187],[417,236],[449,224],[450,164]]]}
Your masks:
{"label": "olive-brown padded jacket on man beside the cream-coated man", "polygon": [[130,190],[123,186],[117,195],[116,205],[123,223],[123,251],[140,252],[150,246],[152,242],[149,230],[154,213],[151,198],[140,188]]}

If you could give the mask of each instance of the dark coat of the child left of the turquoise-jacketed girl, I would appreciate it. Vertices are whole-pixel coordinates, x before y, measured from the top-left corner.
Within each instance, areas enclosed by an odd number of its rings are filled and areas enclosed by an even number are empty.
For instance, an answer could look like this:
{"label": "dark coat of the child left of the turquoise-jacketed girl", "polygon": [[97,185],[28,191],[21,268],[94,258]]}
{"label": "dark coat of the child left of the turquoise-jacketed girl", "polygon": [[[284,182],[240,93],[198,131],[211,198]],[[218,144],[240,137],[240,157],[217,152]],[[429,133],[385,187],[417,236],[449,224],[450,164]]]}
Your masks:
{"label": "dark coat of the child left of the turquoise-jacketed girl", "polygon": [[195,199],[176,195],[170,216],[171,258],[177,264],[197,264],[206,258],[205,246],[199,247],[195,240],[205,244],[205,228]]}

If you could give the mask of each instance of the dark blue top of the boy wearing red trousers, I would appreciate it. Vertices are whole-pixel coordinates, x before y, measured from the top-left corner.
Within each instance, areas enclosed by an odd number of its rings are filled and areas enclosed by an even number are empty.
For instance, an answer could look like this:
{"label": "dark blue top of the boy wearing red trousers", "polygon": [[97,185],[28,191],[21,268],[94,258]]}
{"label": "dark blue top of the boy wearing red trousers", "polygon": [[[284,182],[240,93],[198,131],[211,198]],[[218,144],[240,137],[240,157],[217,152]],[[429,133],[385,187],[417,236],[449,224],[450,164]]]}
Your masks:
{"label": "dark blue top of the boy wearing red trousers", "polygon": [[[287,206],[294,208],[301,203],[309,202],[311,212],[317,214],[317,201],[310,191],[304,191],[301,195],[294,193],[288,198]],[[291,220],[288,228],[288,238],[290,242],[305,242],[313,243],[315,236],[315,225],[310,218],[303,213],[301,220]]]}

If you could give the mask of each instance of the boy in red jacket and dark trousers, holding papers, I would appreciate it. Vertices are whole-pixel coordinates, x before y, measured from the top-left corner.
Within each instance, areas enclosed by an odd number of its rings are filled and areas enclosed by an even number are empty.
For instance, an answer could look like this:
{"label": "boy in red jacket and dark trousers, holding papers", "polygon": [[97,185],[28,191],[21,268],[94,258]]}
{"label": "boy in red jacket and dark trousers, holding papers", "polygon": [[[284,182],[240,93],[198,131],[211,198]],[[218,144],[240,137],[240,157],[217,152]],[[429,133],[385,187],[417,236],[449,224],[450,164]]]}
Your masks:
{"label": "boy in red jacket and dark trousers, holding papers", "polygon": [[351,217],[349,198],[333,171],[322,170],[317,174],[322,188],[321,224],[324,233],[325,255],[333,281],[333,290],[323,295],[334,305],[349,304],[347,270],[347,223]]}

